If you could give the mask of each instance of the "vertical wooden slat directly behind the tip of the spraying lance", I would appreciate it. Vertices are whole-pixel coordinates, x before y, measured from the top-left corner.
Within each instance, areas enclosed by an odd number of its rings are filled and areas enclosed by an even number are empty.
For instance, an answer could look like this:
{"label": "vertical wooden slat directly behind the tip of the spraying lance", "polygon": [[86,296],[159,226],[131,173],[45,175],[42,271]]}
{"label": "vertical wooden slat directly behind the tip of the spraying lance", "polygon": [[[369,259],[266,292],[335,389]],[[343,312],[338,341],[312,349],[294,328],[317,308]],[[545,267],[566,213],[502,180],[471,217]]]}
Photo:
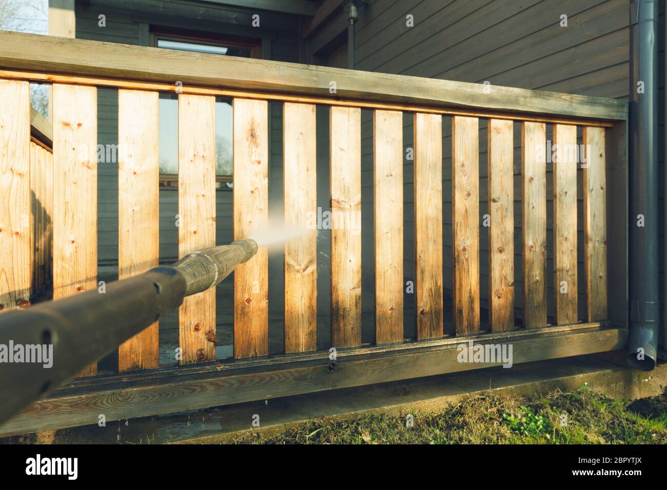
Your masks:
{"label": "vertical wooden slat directly behind the tip of the spraying lance", "polygon": [[[268,221],[268,104],[234,99],[234,239],[247,238]],[[234,357],[269,353],[269,255],[257,255],[234,271]]]}

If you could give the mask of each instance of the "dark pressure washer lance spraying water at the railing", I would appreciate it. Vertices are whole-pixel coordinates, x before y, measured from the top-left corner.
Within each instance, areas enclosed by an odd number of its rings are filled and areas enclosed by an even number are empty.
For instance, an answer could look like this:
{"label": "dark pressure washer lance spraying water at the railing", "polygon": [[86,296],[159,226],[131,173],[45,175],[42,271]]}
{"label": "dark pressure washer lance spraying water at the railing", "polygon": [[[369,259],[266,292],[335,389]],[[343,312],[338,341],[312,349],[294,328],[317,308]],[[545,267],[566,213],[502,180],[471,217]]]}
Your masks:
{"label": "dark pressure washer lance spraying water at the railing", "polygon": [[[95,289],[3,313],[0,349],[11,343],[27,355],[32,346],[53,345],[53,363],[0,361],[0,423],[177,309],[185,296],[220,283],[255,253],[254,240],[236,240],[109,283],[105,293]],[[7,353],[14,359],[14,352]]]}

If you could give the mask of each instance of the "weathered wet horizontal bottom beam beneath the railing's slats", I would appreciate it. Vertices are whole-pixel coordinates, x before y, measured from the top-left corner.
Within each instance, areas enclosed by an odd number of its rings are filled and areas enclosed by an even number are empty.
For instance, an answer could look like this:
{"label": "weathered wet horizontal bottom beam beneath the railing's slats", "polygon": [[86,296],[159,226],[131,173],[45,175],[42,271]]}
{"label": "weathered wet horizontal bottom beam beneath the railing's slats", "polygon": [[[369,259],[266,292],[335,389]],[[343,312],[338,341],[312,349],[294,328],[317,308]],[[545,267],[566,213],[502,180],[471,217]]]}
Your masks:
{"label": "weathered wet horizontal bottom beam beneath the railing's slats", "polygon": [[74,380],[0,425],[0,436],[97,423],[100,413],[108,422],[502,364],[459,362],[468,341],[511,344],[518,364],[622,349],[626,340],[624,328],[588,323],[342,350],[335,365],[323,351]]}

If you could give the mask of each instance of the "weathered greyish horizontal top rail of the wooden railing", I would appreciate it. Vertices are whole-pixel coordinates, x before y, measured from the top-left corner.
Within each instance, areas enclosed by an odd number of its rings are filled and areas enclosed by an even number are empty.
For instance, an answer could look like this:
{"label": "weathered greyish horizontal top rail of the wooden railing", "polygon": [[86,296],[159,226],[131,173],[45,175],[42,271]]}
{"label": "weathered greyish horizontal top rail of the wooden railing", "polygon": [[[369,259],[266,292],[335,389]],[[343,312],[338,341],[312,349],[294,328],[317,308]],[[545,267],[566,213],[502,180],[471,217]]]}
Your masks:
{"label": "weathered greyish horizontal top rail of the wooden railing", "polygon": [[[466,83],[153,47],[0,31],[0,68],[111,80],[151,81],[459,111],[619,121],[628,103],[498,85]],[[332,82],[336,93],[330,93]],[[256,95],[261,97],[261,95]],[[374,107],[374,106],[371,106]],[[419,107],[412,107],[418,111]],[[442,111],[447,113],[447,111]],[[454,111],[456,112],[456,111]],[[475,112],[478,113],[478,112]]]}

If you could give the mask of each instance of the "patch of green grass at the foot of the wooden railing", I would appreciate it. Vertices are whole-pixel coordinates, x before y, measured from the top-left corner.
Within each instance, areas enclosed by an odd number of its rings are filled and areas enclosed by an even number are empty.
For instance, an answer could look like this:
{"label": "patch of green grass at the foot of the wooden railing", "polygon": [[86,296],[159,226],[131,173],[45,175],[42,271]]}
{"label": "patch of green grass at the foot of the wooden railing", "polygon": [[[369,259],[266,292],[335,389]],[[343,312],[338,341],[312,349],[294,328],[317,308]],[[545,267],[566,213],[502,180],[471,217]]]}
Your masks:
{"label": "patch of green grass at the foot of the wooden railing", "polygon": [[440,413],[365,414],[315,419],[279,435],[241,435],[266,444],[665,444],[667,393],[632,403],[588,389],[516,399],[468,397]]}

